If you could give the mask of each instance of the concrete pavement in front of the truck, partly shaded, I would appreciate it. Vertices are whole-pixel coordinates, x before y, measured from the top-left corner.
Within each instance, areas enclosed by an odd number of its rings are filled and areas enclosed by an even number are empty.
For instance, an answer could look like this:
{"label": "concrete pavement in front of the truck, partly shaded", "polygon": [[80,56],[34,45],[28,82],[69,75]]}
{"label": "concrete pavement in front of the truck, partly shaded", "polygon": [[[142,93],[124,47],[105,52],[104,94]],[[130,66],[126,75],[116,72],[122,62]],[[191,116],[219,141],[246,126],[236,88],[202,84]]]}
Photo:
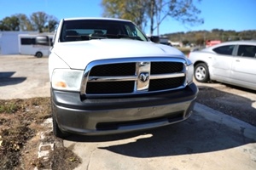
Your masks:
{"label": "concrete pavement in front of the truck, partly shaded", "polygon": [[[146,133],[73,136],[66,147],[83,158],[77,169],[255,169],[256,128],[217,111],[195,106],[186,122]],[[255,139],[255,138],[254,138]]]}

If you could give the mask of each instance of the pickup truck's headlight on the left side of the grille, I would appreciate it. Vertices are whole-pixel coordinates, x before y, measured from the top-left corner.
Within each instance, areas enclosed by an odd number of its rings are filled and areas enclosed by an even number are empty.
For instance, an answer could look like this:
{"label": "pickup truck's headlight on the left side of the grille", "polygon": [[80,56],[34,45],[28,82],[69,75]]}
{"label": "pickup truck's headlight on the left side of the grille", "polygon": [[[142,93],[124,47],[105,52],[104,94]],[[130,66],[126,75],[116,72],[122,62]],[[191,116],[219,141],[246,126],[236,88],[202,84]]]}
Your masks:
{"label": "pickup truck's headlight on the left side of the grille", "polygon": [[51,77],[52,88],[67,91],[79,91],[84,71],[55,69]]}

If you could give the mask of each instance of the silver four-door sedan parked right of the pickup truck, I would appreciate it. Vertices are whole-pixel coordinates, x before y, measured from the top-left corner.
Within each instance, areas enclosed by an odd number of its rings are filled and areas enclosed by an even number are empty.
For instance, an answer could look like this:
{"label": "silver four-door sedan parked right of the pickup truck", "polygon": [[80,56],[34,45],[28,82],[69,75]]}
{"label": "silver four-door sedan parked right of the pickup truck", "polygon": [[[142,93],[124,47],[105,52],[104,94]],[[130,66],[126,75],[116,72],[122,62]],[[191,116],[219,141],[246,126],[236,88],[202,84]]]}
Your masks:
{"label": "silver four-door sedan parked right of the pickup truck", "polygon": [[256,90],[256,41],[223,42],[189,54],[198,82],[210,80]]}

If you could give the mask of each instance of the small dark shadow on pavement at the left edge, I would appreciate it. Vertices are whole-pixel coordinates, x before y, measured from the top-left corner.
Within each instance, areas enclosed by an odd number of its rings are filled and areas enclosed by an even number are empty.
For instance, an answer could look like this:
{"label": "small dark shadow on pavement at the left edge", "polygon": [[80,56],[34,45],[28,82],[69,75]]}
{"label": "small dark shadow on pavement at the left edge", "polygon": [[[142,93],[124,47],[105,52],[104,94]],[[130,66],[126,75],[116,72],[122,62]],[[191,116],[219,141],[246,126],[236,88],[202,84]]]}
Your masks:
{"label": "small dark shadow on pavement at the left edge", "polygon": [[15,71],[12,72],[0,72],[0,86],[9,86],[19,84],[26,80],[26,77],[12,77]]}

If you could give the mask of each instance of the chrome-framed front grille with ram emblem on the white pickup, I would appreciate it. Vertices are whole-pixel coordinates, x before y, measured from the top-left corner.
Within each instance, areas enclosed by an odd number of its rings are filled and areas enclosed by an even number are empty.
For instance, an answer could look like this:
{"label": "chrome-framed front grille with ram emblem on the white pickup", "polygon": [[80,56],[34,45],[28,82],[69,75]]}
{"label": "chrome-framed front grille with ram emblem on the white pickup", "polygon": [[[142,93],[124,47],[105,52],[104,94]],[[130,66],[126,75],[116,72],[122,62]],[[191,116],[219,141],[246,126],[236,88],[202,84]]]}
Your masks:
{"label": "chrome-framed front grille with ram emblem on the white pickup", "polygon": [[104,59],[84,71],[81,94],[89,97],[148,94],[186,85],[186,64],[178,58]]}

